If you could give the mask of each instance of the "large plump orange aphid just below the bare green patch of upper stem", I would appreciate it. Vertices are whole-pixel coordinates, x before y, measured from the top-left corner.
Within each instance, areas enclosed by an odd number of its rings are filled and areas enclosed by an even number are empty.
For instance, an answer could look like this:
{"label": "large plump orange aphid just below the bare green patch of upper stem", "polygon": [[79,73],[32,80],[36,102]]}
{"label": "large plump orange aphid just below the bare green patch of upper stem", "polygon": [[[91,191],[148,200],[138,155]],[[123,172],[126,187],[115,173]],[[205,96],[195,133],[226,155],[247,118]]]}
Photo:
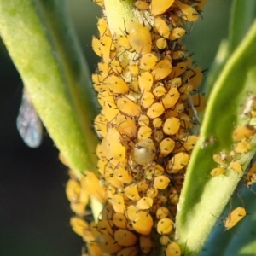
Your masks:
{"label": "large plump orange aphid just below the bare green patch of upper stem", "polygon": [[144,55],[151,52],[152,39],[147,26],[132,21],[128,28],[127,38],[132,49],[138,54]]}

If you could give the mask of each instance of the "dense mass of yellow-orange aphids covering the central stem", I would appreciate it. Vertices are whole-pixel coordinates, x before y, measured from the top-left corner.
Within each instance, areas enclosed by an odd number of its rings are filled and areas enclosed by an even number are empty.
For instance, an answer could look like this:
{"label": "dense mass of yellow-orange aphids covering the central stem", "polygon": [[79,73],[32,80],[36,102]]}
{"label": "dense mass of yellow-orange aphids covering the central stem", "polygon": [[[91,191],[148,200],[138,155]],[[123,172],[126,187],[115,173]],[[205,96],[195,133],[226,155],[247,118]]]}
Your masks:
{"label": "dense mass of yellow-orange aphids covering the central stem", "polygon": [[[104,8],[103,1],[96,2]],[[73,230],[89,255],[148,255],[156,235],[167,256],[181,255],[172,234],[189,155],[193,106],[202,73],[193,67],[180,38],[198,20],[205,1],[136,1],[143,22],[125,24],[112,34],[98,20],[92,48],[102,57],[92,75],[102,107],[94,125],[102,142],[96,148],[100,177],[85,171],[80,183],[67,183],[77,216]],[[197,124],[196,124],[197,125]],[[104,203],[96,223],[84,220],[89,195]],[[154,236],[154,241],[153,241]]]}

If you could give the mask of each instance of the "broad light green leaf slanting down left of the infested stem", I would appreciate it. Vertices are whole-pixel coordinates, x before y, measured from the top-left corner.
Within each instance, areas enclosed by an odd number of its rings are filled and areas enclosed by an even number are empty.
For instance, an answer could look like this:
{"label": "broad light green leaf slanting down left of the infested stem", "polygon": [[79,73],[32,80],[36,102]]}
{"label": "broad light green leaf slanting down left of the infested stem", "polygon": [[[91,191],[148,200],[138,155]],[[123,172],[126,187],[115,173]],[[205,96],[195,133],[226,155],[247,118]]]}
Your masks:
{"label": "broad light green leaf slanting down left of the infested stem", "polygon": [[78,172],[96,163],[90,73],[63,0],[0,0],[0,34],[50,137]]}

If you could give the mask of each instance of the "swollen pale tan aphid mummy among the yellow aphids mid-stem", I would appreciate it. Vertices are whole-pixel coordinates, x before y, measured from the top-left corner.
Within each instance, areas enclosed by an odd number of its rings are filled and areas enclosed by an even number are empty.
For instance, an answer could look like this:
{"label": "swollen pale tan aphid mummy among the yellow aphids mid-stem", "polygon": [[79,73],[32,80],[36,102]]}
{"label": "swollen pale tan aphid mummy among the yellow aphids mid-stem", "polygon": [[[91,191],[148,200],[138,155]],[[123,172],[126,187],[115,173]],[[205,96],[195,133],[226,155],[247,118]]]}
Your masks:
{"label": "swollen pale tan aphid mummy among the yellow aphids mid-stem", "polygon": [[155,146],[152,139],[147,138],[135,144],[132,150],[132,160],[138,165],[147,165],[154,160]]}

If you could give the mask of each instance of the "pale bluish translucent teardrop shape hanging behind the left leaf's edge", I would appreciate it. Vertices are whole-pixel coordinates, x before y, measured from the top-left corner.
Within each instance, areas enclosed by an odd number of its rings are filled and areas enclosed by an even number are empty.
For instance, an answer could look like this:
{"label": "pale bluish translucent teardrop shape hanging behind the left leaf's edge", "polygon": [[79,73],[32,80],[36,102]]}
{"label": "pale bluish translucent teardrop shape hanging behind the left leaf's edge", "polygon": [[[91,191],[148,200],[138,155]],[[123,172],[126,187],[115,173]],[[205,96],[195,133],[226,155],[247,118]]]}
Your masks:
{"label": "pale bluish translucent teardrop shape hanging behind the left leaf's edge", "polygon": [[16,125],[20,137],[28,147],[38,148],[40,146],[43,139],[43,125],[25,89],[23,90]]}

